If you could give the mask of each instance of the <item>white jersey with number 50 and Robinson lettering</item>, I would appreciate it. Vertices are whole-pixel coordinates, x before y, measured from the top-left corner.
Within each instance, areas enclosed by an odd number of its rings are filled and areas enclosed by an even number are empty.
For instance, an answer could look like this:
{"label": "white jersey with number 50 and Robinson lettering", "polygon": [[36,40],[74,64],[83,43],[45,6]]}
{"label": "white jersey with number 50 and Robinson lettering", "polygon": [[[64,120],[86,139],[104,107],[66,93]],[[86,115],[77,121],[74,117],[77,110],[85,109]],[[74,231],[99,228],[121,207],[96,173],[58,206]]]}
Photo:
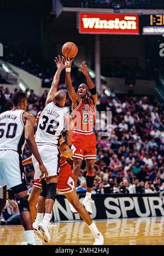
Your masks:
{"label": "white jersey with number 50 and Robinson lettering", "polygon": [[25,147],[24,110],[10,110],[0,114],[0,150],[14,150],[20,155]]}

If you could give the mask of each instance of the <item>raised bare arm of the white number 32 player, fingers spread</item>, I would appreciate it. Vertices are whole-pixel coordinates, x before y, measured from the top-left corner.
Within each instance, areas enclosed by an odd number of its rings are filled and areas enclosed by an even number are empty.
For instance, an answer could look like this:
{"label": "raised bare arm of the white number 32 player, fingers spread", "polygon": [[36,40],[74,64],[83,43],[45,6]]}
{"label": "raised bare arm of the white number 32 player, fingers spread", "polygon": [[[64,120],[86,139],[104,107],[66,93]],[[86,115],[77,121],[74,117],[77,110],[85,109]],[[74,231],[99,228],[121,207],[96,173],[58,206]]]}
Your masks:
{"label": "raised bare arm of the white number 32 player, fingers spread", "polygon": [[64,59],[63,56],[61,57],[60,55],[58,55],[58,59],[57,59],[57,57],[55,57],[54,61],[55,61],[56,66],[57,66],[57,71],[54,75],[54,79],[52,81],[51,89],[49,91],[49,94],[46,97],[45,106],[54,101],[54,96],[57,92],[57,86],[58,86],[58,83],[60,82],[61,72],[62,72],[63,69],[66,68],[66,65],[64,63],[65,59]]}

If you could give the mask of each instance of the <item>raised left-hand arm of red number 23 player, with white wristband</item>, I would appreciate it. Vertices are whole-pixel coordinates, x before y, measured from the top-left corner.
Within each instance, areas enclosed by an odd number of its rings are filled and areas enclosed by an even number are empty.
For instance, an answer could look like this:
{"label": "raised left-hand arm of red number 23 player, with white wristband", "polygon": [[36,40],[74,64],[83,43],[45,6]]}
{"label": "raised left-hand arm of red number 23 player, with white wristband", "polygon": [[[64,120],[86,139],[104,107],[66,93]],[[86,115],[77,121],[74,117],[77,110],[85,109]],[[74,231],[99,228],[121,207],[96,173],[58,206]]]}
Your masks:
{"label": "raised left-hand arm of red number 23 player, with white wristband", "polygon": [[71,67],[72,67],[72,61],[70,59],[68,59],[66,61],[66,86],[67,86],[67,90],[68,90],[68,94],[69,94],[69,98],[71,98],[71,101],[73,103],[80,103],[80,96],[75,92],[75,89],[73,88],[72,85],[72,79],[71,79]]}

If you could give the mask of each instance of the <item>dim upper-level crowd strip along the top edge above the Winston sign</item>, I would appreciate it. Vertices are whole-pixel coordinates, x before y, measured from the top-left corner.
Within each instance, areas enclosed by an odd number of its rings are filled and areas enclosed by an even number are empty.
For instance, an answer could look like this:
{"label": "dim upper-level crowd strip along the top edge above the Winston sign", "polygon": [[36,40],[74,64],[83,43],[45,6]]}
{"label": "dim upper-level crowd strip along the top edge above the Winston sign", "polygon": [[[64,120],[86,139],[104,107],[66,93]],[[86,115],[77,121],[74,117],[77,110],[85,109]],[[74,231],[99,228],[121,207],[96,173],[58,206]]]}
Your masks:
{"label": "dim upper-level crowd strip along the top edge above the Winston sign", "polygon": [[163,8],[162,0],[61,0],[66,7],[81,8],[129,8],[129,9],[151,9]]}

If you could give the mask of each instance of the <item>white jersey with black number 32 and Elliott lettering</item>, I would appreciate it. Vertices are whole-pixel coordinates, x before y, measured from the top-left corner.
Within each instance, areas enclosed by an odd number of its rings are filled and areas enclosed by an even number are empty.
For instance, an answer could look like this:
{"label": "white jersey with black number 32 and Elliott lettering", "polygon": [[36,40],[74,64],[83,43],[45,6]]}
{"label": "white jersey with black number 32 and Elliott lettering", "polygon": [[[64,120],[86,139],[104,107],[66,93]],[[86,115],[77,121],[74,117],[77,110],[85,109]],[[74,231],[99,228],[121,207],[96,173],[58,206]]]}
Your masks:
{"label": "white jersey with black number 32 and Elliott lettering", "polygon": [[65,129],[65,117],[67,108],[59,108],[54,102],[49,103],[40,115],[36,133],[38,146],[50,144],[59,146],[59,139]]}

